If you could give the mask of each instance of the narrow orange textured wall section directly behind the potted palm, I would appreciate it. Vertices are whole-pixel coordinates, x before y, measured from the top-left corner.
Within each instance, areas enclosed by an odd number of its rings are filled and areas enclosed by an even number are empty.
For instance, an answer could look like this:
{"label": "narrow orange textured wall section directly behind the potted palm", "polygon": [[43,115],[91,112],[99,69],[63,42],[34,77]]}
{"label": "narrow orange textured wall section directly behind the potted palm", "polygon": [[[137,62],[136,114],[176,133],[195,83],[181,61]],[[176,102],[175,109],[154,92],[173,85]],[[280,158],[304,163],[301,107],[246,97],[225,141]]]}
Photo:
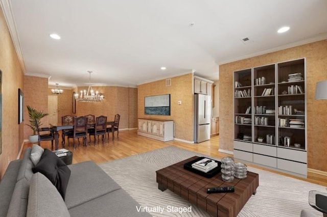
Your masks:
{"label": "narrow orange textured wall section directly behind the potted palm", "polygon": [[[25,76],[24,79],[24,122],[28,123],[29,113],[27,105],[38,111],[48,113],[48,78]],[[42,127],[49,126],[48,117],[41,119]],[[24,139],[28,140],[29,135],[33,134],[32,129],[25,124]]]}

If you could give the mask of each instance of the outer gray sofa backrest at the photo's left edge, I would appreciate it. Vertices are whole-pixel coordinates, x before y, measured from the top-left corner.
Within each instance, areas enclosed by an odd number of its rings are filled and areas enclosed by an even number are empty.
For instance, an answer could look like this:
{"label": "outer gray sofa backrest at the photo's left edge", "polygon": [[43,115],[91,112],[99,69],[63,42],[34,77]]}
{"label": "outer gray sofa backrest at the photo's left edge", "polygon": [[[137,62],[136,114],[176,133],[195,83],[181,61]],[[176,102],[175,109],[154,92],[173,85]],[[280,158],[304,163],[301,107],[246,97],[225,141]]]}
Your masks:
{"label": "outer gray sofa backrest at the photo's left edge", "polygon": [[22,159],[13,160],[8,165],[8,168],[0,182],[0,216],[7,216],[11,196],[17,182],[17,174],[20,168]]}

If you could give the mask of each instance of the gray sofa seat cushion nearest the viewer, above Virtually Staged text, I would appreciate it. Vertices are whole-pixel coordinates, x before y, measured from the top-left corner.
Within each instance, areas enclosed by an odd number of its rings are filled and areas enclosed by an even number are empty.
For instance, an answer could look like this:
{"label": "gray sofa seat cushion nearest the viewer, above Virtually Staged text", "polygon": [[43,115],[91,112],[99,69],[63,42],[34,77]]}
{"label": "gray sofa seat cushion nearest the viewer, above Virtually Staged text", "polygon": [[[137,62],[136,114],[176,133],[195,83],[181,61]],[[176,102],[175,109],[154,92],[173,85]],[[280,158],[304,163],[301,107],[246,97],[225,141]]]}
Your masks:
{"label": "gray sofa seat cushion nearest the viewer, above Virtually Staged text", "polygon": [[148,212],[138,212],[139,206],[123,189],[118,189],[68,211],[71,216],[152,216]]}

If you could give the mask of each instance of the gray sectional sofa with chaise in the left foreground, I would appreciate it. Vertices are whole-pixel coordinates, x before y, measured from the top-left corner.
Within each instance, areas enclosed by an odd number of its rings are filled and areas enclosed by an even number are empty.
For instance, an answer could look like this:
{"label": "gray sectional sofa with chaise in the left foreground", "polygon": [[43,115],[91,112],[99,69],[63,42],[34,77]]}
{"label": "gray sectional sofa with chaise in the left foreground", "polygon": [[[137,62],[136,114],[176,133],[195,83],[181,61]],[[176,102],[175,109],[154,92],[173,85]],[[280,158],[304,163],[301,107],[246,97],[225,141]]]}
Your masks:
{"label": "gray sectional sofa with chaise in the left foreground", "polygon": [[33,173],[31,148],[11,161],[0,182],[3,216],[151,216],[93,161],[69,165],[65,199],[41,173]]}

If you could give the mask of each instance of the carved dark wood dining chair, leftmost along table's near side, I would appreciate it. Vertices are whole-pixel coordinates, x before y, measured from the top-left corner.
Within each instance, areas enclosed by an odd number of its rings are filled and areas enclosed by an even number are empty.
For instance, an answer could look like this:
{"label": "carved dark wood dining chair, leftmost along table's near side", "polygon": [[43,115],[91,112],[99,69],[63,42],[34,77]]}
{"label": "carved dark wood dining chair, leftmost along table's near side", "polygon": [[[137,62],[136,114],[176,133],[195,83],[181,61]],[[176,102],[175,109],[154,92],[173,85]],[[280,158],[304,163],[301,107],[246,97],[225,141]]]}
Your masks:
{"label": "carved dark wood dining chair, leftmost along table's near side", "polygon": [[74,140],[74,149],[76,148],[75,139],[78,139],[78,145],[80,144],[79,138],[83,138],[83,145],[87,145],[87,118],[85,116],[80,116],[74,118],[74,130],[73,133],[69,133],[68,137],[68,147],[70,146],[69,138]]}

